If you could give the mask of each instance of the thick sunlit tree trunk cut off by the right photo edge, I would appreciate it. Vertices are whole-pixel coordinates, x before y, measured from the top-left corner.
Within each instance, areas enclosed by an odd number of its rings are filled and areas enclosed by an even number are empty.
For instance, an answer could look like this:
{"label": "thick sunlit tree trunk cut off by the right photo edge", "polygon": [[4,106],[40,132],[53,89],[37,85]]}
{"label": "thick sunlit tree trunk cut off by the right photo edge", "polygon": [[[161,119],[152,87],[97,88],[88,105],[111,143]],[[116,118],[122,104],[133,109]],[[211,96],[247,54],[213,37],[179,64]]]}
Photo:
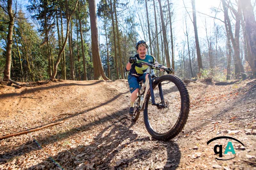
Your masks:
{"label": "thick sunlit tree trunk cut off by the right photo edge", "polygon": [[253,8],[250,0],[238,0],[241,3],[244,22],[245,22],[245,32],[247,35],[247,40],[249,46],[250,55],[248,55],[248,62],[252,69],[252,73],[256,76],[256,22],[253,13]]}

